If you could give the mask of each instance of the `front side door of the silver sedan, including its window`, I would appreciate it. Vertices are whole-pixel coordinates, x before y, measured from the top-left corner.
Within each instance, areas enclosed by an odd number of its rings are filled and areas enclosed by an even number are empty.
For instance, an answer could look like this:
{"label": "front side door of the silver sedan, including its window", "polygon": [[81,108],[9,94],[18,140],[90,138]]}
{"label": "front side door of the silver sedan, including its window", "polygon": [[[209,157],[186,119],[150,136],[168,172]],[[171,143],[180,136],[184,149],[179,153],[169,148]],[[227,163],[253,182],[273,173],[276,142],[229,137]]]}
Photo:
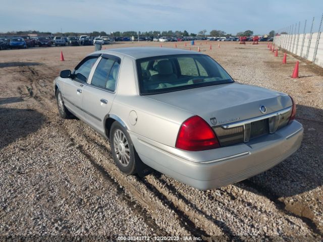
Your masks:
{"label": "front side door of the silver sedan, including its window", "polygon": [[83,90],[97,58],[98,56],[88,56],[83,59],[72,73],[75,78],[66,79],[64,83],[64,103],[69,110],[81,119],[85,119],[82,108]]}

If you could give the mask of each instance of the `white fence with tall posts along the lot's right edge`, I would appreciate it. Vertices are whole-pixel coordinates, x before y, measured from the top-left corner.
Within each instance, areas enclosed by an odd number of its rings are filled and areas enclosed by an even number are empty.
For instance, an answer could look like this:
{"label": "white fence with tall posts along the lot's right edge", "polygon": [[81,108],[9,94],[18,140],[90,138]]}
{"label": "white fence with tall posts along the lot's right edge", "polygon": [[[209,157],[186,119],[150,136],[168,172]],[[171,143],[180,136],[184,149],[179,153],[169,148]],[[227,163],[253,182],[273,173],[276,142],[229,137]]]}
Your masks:
{"label": "white fence with tall posts along the lot's right edge", "polygon": [[300,33],[301,22],[283,29],[287,34],[274,37],[274,43],[282,49],[296,54],[313,64],[323,67],[323,35],[321,34],[323,14],[321,16],[318,31],[313,33],[314,18],[311,21],[310,32],[306,33],[306,23],[304,22],[303,32]]}

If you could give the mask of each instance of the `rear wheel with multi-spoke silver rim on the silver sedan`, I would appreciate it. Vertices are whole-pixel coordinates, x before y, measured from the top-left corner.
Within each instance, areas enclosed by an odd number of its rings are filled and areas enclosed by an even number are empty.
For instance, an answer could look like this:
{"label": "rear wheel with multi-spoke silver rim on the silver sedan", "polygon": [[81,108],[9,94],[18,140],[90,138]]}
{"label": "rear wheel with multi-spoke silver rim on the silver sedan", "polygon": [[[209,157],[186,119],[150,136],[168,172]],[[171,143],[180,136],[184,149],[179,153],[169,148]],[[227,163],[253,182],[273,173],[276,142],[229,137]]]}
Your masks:
{"label": "rear wheel with multi-spoke silver rim on the silver sedan", "polygon": [[[118,136],[117,134],[121,134],[124,135],[124,137],[126,138],[126,142],[128,143],[128,145],[124,145],[124,147],[122,147],[123,145],[118,145],[118,138],[116,139],[115,136]],[[118,141],[117,141],[118,140]],[[122,140],[122,138],[120,139]],[[125,143],[126,143],[125,142]],[[111,126],[111,130],[110,130],[110,146],[111,146],[111,151],[112,151],[112,156],[114,158],[114,161],[116,163],[116,165],[118,166],[118,168],[125,174],[127,175],[132,175],[137,173],[137,162],[138,162],[138,155],[135,153],[136,150],[133,146],[133,143],[130,139],[130,136],[127,132],[127,130],[117,121],[114,122]],[[120,148],[121,147],[121,148]],[[122,160],[122,149],[125,149],[125,154],[127,153],[129,156],[129,160],[128,160],[128,164],[126,164],[127,162],[124,162],[125,160]],[[129,150],[129,152],[127,152],[127,148]],[[119,152],[119,154],[117,154]],[[125,159],[127,158],[127,155],[124,155]]]}

